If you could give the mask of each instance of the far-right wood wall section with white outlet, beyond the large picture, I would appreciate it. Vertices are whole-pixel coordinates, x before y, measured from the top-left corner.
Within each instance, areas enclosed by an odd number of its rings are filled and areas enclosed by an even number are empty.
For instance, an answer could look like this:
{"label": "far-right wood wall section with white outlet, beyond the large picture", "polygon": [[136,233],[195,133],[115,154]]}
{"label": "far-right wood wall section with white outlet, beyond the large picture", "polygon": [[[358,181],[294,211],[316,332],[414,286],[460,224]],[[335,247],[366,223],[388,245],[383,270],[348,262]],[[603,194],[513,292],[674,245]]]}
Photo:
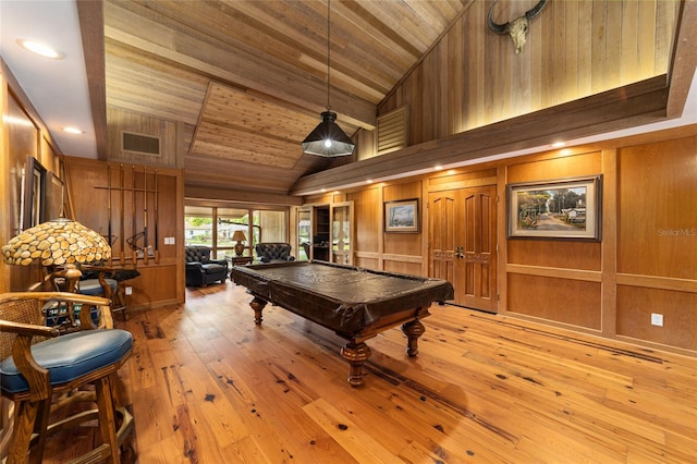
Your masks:
{"label": "far-right wood wall section with white outlet, beyond the large picture", "polygon": [[617,334],[697,350],[697,137],[622,148],[617,166]]}

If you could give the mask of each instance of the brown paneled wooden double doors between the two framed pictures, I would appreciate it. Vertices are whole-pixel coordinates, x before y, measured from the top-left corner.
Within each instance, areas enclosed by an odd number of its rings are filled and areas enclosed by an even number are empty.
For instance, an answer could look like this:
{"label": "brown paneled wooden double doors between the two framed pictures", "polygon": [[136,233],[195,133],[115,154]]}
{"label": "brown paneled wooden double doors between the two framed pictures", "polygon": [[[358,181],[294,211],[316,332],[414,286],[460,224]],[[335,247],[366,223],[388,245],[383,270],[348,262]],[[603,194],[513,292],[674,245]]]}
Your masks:
{"label": "brown paneled wooden double doors between the two framed pictures", "polygon": [[451,303],[497,312],[496,185],[429,194],[429,276],[449,280]]}

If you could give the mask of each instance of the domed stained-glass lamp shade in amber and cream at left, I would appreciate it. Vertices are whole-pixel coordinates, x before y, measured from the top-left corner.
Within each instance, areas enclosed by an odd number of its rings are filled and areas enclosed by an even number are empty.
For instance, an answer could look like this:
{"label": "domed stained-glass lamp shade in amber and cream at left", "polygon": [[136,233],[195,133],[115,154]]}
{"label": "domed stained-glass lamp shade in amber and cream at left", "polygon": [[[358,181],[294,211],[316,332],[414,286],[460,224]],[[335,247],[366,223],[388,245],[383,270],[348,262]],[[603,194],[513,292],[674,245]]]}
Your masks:
{"label": "domed stained-glass lamp shade in amber and cream at left", "polygon": [[3,261],[15,266],[29,266],[36,259],[44,266],[62,266],[109,258],[111,247],[103,236],[65,218],[27,229],[2,247]]}

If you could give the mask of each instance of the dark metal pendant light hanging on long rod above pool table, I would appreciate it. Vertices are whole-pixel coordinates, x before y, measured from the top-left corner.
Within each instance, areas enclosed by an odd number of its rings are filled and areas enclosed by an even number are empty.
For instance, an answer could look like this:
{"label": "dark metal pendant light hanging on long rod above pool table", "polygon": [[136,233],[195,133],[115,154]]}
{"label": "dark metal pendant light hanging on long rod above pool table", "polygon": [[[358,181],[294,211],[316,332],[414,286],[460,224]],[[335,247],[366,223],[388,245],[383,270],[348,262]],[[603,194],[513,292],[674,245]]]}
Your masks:
{"label": "dark metal pendant light hanging on long rod above pool table", "polygon": [[330,69],[330,17],[331,0],[327,0],[327,111],[321,113],[321,122],[303,141],[303,151],[309,155],[334,157],[353,154],[354,143],[337,124],[337,113],[329,107],[329,69]]}

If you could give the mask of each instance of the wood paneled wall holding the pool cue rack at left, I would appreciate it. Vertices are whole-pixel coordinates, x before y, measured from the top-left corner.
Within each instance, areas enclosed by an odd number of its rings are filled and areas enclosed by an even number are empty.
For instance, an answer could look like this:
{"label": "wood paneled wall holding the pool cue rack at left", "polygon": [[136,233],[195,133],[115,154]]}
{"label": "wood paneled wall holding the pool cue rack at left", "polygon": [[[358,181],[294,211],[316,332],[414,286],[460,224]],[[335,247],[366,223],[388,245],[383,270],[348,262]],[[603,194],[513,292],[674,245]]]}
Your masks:
{"label": "wood paneled wall holding the pool cue rack at left", "polygon": [[[65,172],[73,219],[102,235],[111,232],[114,265],[137,265],[140,276],[127,282],[130,307],[184,302],[182,171],[65,157]],[[138,255],[130,240],[139,248],[149,245],[152,255]]]}

